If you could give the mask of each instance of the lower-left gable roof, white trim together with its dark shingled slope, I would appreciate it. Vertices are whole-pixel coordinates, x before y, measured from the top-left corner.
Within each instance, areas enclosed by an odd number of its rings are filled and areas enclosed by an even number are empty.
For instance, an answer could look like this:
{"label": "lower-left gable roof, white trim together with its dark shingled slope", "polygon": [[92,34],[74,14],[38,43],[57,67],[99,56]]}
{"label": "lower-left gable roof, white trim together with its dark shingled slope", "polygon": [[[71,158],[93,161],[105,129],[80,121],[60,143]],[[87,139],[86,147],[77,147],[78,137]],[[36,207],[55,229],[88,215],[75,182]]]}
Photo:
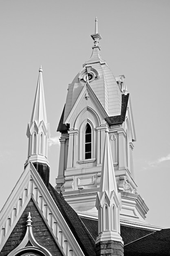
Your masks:
{"label": "lower-left gable roof, white trim together with its dark shingled slope", "polygon": [[[0,251],[31,199],[41,213],[63,255],[66,255],[62,245],[64,240],[68,241],[68,250],[72,249],[76,256],[95,255],[95,241],[77,213],[51,185],[47,189],[31,162],[26,166],[0,212],[0,231],[5,231],[4,237],[1,238]],[[10,225],[8,225],[9,218],[11,220]],[[58,239],[60,232],[62,232],[62,240]]]}

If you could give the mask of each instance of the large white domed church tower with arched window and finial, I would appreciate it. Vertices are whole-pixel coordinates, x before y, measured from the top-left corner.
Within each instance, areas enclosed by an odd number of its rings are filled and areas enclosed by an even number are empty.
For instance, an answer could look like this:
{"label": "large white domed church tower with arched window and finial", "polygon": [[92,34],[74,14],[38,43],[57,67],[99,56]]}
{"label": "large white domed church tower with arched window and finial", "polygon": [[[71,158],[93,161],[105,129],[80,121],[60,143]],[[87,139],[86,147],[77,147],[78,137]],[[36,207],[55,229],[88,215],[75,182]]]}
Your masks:
{"label": "large white domed church tower with arched window and finial", "polygon": [[125,76],[114,76],[100,55],[97,17],[91,58],[68,85],[66,104],[57,131],[61,132],[57,190],[80,215],[97,218],[99,191],[108,128],[117,190],[121,192],[120,221],[144,227],[148,207],[137,192],[132,150],[136,141]]}

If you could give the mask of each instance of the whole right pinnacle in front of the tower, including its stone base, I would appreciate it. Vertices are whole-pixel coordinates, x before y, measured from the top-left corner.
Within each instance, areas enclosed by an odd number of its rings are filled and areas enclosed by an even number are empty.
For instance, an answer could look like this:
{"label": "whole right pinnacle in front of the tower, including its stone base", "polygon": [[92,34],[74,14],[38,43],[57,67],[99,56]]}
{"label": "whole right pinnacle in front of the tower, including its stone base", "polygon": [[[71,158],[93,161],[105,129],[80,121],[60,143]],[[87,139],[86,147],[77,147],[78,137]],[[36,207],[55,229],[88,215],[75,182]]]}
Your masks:
{"label": "whole right pinnacle in front of the tower, including its stone base", "polygon": [[[115,171],[113,167],[112,152],[108,136],[108,128],[105,130],[104,155],[102,163],[102,173],[99,192],[96,198],[96,208],[98,210],[98,237],[96,239],[96,249],[101,255],[104,243],[110,244],[110,254],[113,255],[113,249],[119,247],[119,253],[114,255],[122,255],[124,242],[120,236],[120,209],[121,194],[117,192],[117,184]],[[104,247],[105,248],[105,247]],[[99,255],[100,255],[99,254]]]}

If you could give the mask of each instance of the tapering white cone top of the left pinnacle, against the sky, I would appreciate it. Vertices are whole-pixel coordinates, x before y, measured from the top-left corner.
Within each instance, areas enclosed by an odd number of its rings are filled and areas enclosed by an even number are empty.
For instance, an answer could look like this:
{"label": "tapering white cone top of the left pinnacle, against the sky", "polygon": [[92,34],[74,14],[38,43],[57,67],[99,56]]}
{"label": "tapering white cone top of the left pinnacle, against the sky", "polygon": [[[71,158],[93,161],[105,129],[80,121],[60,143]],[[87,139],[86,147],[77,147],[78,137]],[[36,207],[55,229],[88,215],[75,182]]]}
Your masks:
{"label": "tapering white cone top of the left pinnacle, against the sky", "polygon": [[39,69],[37,90],[35,94],[33,112],[31,116],[31,122],[33,121],[37,121],[38,125],[40,124],[41,121],[44,121],[45,124],[47,123],[44,87],[43,87],[43,79],[42,79],[42,66],[40,66],[40,69]]}

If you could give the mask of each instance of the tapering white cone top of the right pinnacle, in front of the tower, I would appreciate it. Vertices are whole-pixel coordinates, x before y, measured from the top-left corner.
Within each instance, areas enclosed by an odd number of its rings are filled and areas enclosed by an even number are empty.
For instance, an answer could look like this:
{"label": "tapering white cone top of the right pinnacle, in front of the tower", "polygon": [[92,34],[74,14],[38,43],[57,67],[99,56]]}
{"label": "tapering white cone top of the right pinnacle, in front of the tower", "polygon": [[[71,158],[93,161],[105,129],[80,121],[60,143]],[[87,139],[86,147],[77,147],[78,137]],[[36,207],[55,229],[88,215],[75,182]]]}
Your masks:
{"label": "tapering white cone top of the right pinnacle, in front of the tower", "polygon": [[108,136],[108,132],[109,132],[108,128],[106,128],[105,132],[106,132],[106,137],[105,137],[105,144],[104,144],[104,155],[103,155],[103,162],[102,162],[102,174],[101,174],[99,192],[106,191],[108,195],[110,195],[112,191],[115,191],[115,193],[117,193],[117,184],[116,184],[116,178],[115,178],[115,171],[113,167],[110,141]]}

